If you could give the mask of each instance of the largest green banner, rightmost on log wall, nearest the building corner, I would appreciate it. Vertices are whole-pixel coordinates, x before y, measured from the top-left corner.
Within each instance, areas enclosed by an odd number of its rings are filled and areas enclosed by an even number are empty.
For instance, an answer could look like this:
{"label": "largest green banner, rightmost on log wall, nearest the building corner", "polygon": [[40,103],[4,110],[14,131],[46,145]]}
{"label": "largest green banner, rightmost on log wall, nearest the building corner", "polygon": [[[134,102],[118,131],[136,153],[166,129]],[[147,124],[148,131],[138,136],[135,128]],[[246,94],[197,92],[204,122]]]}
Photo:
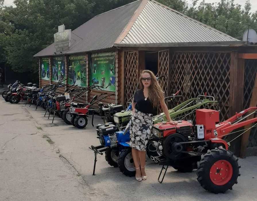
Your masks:
{"label": "largest green banner, rightmost on log wall, nearest the building corner", "polygon": [[115,91],[115,52],[91,55],[90,85],[103,86],[103,90]]}

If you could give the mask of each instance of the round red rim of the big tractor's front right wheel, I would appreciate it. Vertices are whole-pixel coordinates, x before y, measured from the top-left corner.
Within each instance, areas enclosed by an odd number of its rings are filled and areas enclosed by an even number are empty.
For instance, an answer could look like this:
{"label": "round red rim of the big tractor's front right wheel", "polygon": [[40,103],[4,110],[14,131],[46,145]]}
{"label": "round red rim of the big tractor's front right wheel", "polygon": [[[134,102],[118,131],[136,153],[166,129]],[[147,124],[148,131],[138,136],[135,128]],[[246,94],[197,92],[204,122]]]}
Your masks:
{"label": "round red rim of the big tractor's front right wheel", "polygon": [[225,185],[232,177],[233,168],[229,161],[216,161],[210,168],[210,179],[216,185]]}

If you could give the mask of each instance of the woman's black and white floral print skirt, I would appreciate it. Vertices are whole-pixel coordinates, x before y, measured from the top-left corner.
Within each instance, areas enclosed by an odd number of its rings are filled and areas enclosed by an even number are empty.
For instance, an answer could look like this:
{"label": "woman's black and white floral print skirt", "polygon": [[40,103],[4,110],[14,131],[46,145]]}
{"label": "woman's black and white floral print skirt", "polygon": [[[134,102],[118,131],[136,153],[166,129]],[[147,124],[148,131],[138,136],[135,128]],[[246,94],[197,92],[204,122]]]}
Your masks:
{"label": "woman's black and white floral print skirt", "polygon": [[135,110],[130,123],[130,147],[146,151],[146,145],[152,129],[152,114]]}

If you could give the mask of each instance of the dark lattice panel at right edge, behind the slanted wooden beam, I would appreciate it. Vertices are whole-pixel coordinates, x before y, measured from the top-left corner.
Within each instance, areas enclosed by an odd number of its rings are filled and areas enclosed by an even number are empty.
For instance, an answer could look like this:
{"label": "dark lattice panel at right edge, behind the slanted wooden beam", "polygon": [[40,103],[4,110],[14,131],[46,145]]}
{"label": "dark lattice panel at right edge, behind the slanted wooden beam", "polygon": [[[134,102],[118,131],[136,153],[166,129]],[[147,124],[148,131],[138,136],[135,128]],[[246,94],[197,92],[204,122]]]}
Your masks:
{"label": "dark lattice panel at right edge, behind the slanted wooden beam", "polygon": [[[256,73],[257,59],[246,59],[244,71],[244,109],[250,106]],[[251,129],[247,147],[255,146],[257,146],[257,127]]]}

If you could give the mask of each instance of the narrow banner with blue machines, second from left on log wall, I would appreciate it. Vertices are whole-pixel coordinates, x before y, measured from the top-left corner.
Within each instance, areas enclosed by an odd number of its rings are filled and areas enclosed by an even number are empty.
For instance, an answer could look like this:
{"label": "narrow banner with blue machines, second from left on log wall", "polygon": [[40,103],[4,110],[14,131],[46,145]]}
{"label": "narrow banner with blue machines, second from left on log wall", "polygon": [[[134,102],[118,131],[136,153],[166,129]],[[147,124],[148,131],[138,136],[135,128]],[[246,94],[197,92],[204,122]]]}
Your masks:
{"label": "narrow banner with blue machines, second from left on log wall", "polygon": [[[64,57],[53,57],[52,65],[52,81],[58,82],[59,80],[65,80],[65,60]],[[63,82],[65,83],[65,81]]]}

